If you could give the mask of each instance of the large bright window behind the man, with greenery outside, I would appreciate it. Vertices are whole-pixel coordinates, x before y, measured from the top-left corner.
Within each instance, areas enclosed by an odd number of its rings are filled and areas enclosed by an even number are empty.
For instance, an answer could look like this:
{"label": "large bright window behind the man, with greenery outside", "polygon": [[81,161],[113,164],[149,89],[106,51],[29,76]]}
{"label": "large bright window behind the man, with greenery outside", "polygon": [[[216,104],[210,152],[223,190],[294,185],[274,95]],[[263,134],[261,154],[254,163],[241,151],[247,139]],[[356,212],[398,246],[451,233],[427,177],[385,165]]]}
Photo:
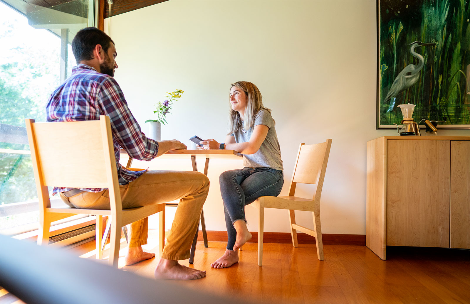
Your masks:
{"label": "large bright window behind the man, with greenery outside", "polygon": [[38,221],[24,119],[45,121],[47,99],[76,65],[70,42],[93,26],[94,7],[94,0],[0,1],[0,229]]}

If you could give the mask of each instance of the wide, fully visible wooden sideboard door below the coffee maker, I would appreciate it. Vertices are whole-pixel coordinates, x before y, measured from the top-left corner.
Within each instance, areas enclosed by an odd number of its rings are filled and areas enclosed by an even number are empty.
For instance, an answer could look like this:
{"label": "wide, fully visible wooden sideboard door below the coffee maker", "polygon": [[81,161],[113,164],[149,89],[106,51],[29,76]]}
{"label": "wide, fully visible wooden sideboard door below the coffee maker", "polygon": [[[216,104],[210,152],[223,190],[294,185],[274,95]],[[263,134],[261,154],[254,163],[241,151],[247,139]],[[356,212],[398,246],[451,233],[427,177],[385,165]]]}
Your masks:
{"label": "wide, fully visible wooden sideboard door below the coffee maker", "polygon": [[450,141],[387,141],[387,245],[449,247]]}

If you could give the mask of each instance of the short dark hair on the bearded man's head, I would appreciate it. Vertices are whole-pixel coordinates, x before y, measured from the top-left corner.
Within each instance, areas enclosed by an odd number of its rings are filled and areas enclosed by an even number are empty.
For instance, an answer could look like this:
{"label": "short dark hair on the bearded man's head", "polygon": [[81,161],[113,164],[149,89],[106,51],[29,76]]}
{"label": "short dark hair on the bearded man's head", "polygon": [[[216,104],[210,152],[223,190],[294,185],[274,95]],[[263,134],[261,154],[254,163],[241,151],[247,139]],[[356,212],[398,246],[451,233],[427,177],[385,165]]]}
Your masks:
{"label": "short dark hair on the bearded man's head", "polygon": [[72,40],[72,52],[77,64],[80,61],[93,59],[93,49],[98,44],[104,52],[108,52],[111,42],[114,44],[110,36],[95,27],[79,30]]}

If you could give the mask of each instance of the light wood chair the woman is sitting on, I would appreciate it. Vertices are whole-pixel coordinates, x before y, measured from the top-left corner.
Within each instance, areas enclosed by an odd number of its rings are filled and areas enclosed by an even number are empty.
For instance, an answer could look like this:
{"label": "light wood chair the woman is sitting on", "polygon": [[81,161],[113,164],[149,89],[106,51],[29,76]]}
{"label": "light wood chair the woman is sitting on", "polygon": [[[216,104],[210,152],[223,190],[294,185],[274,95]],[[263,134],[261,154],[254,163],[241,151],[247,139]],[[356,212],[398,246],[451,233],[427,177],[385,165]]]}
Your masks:
{"label": "light wood chair the woman is sitting on", "polygon": [[[326,165],[328,163],[331,139],[321,144],[300,144],[297,160],[294,165],[294,173],[289,187],[289,196],[273,197],[263,196],[251,205],[259,210],[259,233],[258,233],[258,265],[263,264],[263,230],[264,230],[264,208],[288,209],[292,245],[298,246],[297,230],[315,237],[317,245],[317,257],[323,259],[323,243],[321,240],[320,225],[320,196],[325,177]],[[298,198],[295,195],[297,183],[316,184],[313,198]],[[313,213],[313,228],[309,229],[296,224],[295,210],[311,211]]]}

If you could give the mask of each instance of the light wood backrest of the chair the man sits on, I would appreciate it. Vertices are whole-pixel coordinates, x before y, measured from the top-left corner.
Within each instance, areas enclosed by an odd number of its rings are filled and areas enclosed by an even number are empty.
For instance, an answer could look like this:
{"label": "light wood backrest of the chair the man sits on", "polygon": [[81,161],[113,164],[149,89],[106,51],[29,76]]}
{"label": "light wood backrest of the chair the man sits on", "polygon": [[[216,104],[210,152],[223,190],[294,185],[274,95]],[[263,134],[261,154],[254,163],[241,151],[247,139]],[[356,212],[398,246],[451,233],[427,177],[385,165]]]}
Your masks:
{"label": "light wood backrest of the chair the man sits on", "polygon": [[120,202],[108,116],[79,122],[26,119],[26,129],[38,196],[45,207],[50,207],[47,186],[109,188],[111,201]]}

